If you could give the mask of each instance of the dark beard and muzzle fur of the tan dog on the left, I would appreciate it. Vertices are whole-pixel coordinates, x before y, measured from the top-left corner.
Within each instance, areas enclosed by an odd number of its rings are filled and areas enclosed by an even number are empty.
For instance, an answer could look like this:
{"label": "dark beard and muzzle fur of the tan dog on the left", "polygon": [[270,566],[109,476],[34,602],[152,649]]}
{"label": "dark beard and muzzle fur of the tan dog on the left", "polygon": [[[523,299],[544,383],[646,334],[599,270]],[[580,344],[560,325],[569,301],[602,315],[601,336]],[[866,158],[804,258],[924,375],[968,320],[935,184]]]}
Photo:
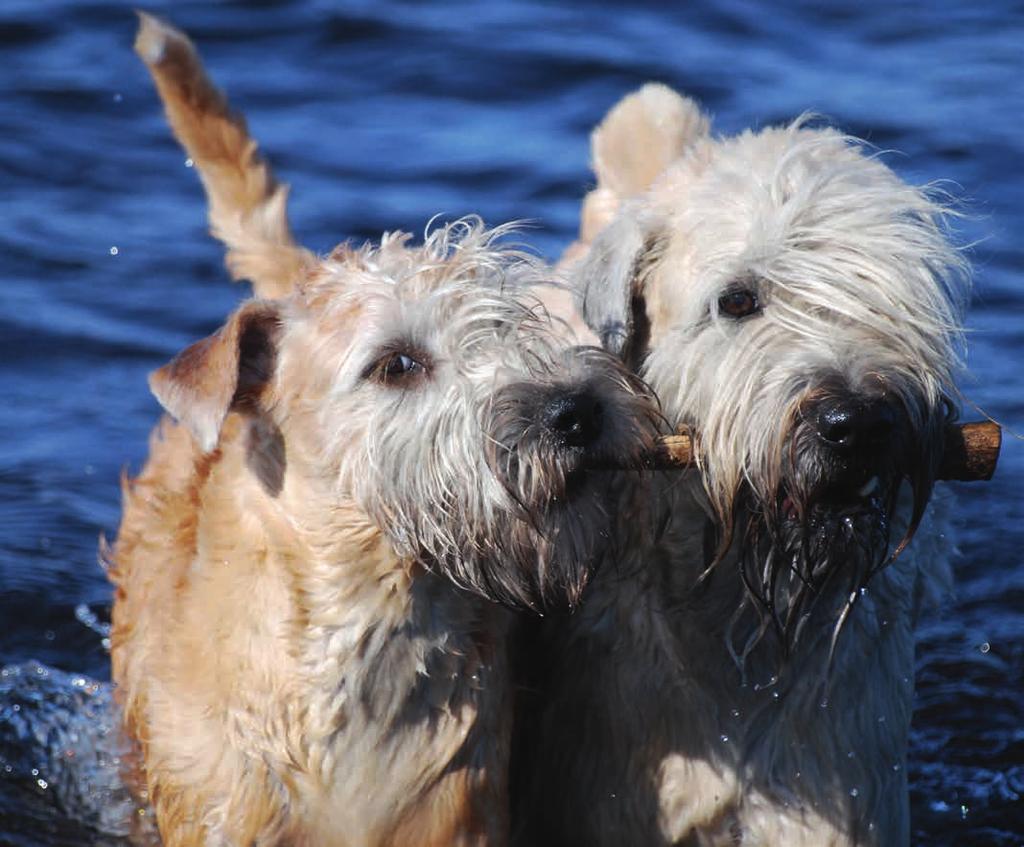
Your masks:
{"label": "dark beard and muzzle fur of the tan dog on the left", "polygon": [[487,462],[508,506],[507,531],[496,539],[502,555],[481,561],[488,596],[539,610],[573,608],[601,564],[636,543],[651,497],[629,469],[644,466],[664,420],[642,383],[615,375],[627,390],[601,394],[600,435],[578,447],[539,422],[530,391],[495,404]]}

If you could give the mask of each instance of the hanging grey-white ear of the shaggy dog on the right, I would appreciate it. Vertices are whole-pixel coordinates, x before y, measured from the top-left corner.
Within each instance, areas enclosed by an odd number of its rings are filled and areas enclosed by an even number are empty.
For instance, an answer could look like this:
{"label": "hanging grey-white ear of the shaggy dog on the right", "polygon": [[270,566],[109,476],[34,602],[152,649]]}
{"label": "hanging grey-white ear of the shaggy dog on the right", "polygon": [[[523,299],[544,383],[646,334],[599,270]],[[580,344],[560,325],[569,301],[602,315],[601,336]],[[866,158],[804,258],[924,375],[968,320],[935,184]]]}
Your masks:
{"label": "hanging grey-white ear of the shaggy dog on the right", "polygon": [[624,209],[569,271],[587,326],[606,350],[633,370],[639,368],[650,340],[644,296],[646,268],[662,242],[660,230],[638,211]]}

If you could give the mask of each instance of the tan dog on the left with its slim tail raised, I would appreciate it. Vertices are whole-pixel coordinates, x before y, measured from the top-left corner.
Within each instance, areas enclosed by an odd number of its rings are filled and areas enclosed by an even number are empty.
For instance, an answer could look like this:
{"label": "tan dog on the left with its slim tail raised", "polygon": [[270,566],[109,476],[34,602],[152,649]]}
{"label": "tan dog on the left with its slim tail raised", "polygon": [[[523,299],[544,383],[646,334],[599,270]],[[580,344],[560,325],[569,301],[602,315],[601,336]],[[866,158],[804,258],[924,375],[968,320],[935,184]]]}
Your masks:
{"label": "tan dog on the left with its slim tail raised", "polygon": [[[114,678],[167,845],[501,845],[510,616],[568,605],[655,408],[473,221],[314,259],[183,35],[136,48],[243,304],[152,377],[112,551]],[[519,292],[520,294],[517,294]]]}

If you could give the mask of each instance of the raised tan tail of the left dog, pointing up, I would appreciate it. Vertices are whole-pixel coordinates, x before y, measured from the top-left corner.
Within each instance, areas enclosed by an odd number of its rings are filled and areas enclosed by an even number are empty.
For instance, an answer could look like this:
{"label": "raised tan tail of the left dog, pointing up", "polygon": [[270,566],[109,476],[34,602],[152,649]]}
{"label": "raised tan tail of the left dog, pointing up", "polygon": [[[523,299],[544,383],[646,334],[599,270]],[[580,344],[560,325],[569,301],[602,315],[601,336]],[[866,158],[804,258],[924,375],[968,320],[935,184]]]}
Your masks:
{"label": "raised tan tail of the left dog, pointing up", "polygon": [[273,178],[245,119],[230,111],[188,37],[145,12],[138,17],[135,52],[203,180],[210,228],[227,247],[231,276],[252,282],[258,297],[287,294],[312,261],[288,224],[288,186]]}

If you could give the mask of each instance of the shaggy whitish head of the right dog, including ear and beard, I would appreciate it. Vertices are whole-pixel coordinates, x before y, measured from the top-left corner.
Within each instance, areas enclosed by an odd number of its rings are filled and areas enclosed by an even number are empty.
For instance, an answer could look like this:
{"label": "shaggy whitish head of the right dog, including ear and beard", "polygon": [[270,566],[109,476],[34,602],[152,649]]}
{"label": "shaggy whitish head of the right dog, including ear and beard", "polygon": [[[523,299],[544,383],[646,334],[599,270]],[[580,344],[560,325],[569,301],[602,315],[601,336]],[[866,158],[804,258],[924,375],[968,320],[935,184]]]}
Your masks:
{"label": "shaggy whitish head of the right dog, including ear and beard", "polygon": [[577,270],[587,323],[695,429],[744,576],[785,617],[905,543],[904,483],[907,538],[927,504],[966,292],[942,217],[835,131],[701,135]]}

